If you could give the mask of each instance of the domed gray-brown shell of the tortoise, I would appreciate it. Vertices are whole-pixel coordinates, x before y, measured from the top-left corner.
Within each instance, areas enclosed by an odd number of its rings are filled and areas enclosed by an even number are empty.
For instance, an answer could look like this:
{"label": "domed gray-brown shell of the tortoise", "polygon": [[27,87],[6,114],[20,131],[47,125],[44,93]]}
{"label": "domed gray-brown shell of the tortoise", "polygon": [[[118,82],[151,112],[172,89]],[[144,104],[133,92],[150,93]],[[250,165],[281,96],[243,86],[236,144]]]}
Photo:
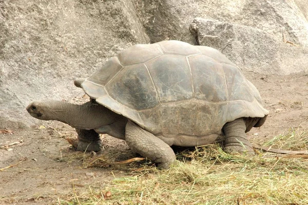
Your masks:
{"label": "domed gray-brown shell of the tortoise", "polygon": [[256,87],[222,53],[177,40],[127,48],[81,87],[164,137],[219,135],[226,122],[268,114]]}

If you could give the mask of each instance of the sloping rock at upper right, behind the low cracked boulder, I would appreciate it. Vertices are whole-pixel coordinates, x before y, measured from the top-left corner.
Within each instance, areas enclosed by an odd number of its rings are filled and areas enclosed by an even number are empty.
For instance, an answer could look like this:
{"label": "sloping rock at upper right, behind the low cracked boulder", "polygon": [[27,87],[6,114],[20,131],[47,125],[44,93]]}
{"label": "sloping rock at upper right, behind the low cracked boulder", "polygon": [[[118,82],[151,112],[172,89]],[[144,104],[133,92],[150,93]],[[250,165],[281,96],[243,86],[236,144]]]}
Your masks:
{"label": "sloping rock at upper right, behind the low cracked boulder", "polygon": [[196,17],[258,28],[282,40],[308,45],[307,0],[134,0],[151,42],[165,39],[195,44],[188,27]]}

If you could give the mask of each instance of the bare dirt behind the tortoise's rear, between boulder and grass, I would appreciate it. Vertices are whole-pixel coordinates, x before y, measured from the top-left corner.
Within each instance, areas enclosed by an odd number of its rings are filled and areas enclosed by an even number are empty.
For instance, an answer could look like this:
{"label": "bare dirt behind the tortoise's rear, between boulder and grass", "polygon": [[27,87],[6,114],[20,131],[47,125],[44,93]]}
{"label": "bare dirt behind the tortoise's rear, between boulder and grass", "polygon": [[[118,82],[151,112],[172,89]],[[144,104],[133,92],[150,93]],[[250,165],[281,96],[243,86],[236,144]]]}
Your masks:
{"label": "bare dirt behind the tortoise's rear, between boulder and grass", "polygon": [[253,72],[245,76],[258,88],[264,107],[269,111],[265,124],[248,135],[258,133],[257,141],[308,127],[308,74],[286,76],[260,75]]}

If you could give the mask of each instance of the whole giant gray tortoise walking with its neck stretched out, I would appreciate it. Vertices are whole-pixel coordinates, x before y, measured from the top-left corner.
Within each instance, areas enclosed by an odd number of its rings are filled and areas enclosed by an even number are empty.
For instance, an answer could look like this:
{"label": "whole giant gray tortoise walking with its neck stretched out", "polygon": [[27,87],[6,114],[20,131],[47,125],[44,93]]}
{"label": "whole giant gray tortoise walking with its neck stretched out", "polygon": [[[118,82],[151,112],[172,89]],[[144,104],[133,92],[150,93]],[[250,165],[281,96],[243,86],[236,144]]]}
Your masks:
{"label": "whole giant gray tortoise walking with its neck stretched out", "polygon": [[268,114],[256,87],[222,53],[177,40],[127,48],[74,84],[88,103],[34,101],[27,111],[76,128],[80,151],[100,151],[106,133],[161,168],[176,159],[171,145],[207,145],[220,135],[225,152],[254,154],[245,133]]}

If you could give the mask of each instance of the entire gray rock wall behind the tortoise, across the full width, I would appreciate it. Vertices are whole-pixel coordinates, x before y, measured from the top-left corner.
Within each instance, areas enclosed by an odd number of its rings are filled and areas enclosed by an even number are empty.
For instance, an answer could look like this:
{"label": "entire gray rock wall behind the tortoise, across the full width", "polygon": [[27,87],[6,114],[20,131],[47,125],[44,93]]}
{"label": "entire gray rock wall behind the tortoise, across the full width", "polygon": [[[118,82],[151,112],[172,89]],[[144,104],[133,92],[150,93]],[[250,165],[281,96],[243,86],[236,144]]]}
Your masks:
{"label": "entire gray rock wall behind the tortoise, across the full width", "polygon": [[134,44],[177,39],[213,46],[243,70],[307,71],[307,12],[306,0],[4,0],[0,128],[37,122],[25,111],[34,99],[82,95],[73,79]]}

